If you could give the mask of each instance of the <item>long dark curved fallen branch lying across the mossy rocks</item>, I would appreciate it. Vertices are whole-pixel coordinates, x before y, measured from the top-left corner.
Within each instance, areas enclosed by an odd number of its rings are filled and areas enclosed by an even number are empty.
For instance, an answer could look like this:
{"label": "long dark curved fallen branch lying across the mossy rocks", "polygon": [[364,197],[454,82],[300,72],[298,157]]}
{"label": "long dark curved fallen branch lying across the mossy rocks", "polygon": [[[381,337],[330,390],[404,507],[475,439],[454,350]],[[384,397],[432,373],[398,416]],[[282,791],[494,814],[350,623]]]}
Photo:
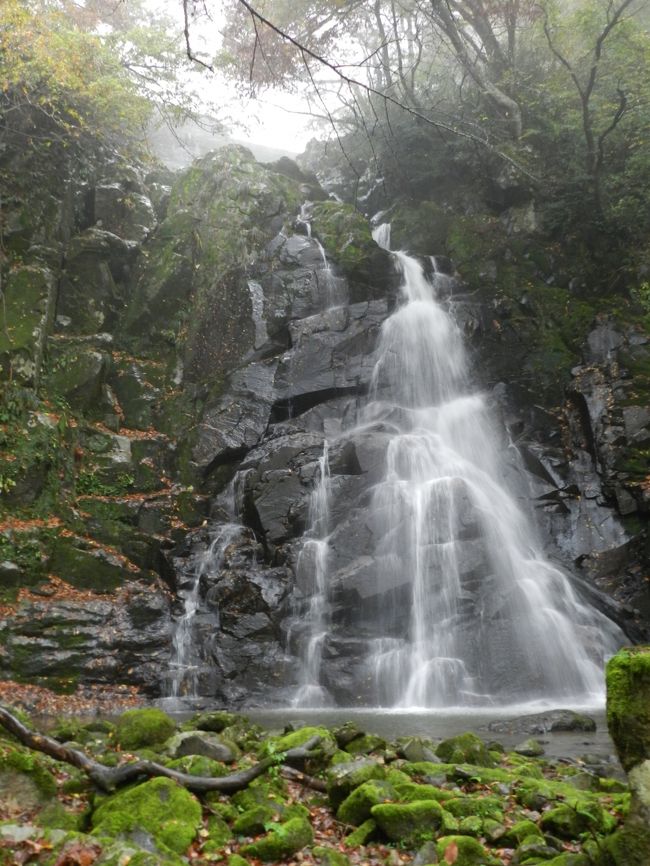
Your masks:
{"label": "long dark curved fallen branch lying across the mossy rocks", "polygon": [[[196,794],[205,794],[208,791],[233,794],[235,791],[241,791],[243,788],[246,788],[253,779],[257,779],[258,776],[261,776],[271,767],[282,765],[285,760],[290,762],[305,761],[313,754],[312,750],[320,743],[320,737],[312,737],[302,746],[289,749],[287,752],[273,755],[272,757],[263,758],[257,764],[253,764],[252,767],[238,770],[235,773],[230,773],[228,776],[190,776],[187,773],[171,770],[169,767],[164,767],[155,761],[131,761],[121,764],[119,767],[105,767],[78,749],[64,746],[58,740],[48,737],[46,734],[31,731],[2,705],[0,705],[0,725],[6,731],[13,734],[24,746],[81,770],[88,776],[95,787],[105,793],[112,793],[121,785],[127,785],[137,779],[165,776]],[[292,768],[289,767],[287,769],[291,770]],[[293,778],[297,779],[299,775],[297,773]]]}

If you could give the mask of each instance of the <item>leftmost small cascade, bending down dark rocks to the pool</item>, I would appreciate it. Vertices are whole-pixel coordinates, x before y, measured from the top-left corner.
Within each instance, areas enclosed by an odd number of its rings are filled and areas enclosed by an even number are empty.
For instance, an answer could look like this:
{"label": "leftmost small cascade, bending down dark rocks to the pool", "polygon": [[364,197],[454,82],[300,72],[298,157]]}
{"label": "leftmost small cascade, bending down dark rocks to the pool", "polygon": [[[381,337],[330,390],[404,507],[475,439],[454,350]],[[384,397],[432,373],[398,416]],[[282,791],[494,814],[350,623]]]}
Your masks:
{"label": "leftmost small cascade, bending down dark rocks to the pool", "polygon": [[202,578],[216,575],[223,566],[224,556],[230,544],[241,533],[238,523],[225,523],[218,527],[207,550],[199,558],[194,573],[178,590],[184,611],[176,622],[172,637],[170,659],[172,698],[196,698],[199,696],[199,678],[204,663],[201,658],[200,641],[196,640],[196,620],[201,609]]}

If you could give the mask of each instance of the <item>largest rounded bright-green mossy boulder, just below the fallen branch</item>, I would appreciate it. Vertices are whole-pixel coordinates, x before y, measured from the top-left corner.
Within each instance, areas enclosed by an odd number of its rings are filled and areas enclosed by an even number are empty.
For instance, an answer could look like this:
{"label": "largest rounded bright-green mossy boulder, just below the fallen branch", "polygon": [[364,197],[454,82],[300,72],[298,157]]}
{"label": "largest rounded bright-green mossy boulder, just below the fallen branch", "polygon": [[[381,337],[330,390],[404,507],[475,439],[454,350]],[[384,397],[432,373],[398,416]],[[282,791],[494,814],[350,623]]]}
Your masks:
{"label": "largest rounded bright-green mossy boulder, just below the fallen branch", "polygon": [[183,854],[201,824],[201,804],[171,779],[150,779],[107,797],[93,812],[98,835],[151,837],[162,853]]}

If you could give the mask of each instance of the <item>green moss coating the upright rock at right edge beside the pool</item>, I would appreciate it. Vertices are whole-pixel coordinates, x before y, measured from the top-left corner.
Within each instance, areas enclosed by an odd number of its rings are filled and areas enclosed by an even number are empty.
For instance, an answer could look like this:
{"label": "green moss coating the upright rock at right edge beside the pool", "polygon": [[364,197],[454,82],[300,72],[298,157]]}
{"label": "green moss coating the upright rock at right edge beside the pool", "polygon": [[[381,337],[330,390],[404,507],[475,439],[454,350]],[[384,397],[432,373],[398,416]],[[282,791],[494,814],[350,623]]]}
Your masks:
{"label": "green moss coating the upright rock at right edge beside the pool", "polygon": [[650,647],[619,650],[606,677],[607,726],[629,771],[650,757]]}

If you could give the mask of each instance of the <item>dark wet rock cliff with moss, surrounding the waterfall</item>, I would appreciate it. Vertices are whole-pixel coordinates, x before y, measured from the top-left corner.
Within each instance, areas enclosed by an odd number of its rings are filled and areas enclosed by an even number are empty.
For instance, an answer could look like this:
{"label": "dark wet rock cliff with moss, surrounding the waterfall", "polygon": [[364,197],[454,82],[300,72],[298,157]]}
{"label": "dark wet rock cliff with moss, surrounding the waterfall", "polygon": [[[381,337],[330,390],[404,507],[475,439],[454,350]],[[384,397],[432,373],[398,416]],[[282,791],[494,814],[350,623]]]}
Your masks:
{"label": "dark wet rock cliff with moss, surrounding the waterfall", "polygon": [[[66,171],[5,196],[0,673],[168,693],[177,593],[233,519],[234,478],[243,528],[219,571],[201,572],[191,661],[206,694],[286,701],[290,624],[308,606],[299,539],[324,441],[368,389],[390,256],[354,207],[317,201],[314,176],[241,148],[176,176],[119,161]],[[296,220],[306,199],[314,238]],[[403,202],[390,218],[396,246],[453,259],[450,303],[523,457],[511,471],[549,547],[640,637],[647,322],[590,297],[531,214]],[[335,622],[386,603],[363,568],[376,444],[329,454]],[[333,635],[326,676],[342,700],[356,653]]]}

